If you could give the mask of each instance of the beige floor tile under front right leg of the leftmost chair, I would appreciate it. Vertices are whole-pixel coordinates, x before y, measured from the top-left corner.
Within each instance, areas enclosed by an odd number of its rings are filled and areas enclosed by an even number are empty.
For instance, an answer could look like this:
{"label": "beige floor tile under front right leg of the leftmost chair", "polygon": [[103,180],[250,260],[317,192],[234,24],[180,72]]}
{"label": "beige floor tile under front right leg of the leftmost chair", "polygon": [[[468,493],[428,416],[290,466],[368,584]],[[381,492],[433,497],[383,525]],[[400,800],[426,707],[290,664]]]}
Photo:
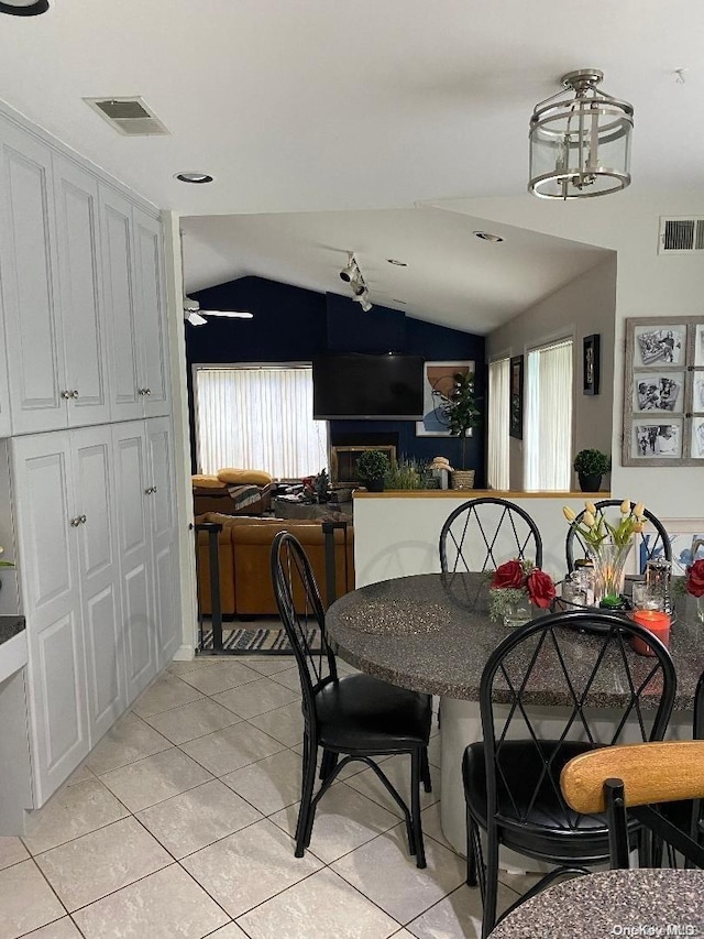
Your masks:
{"label": "beige floor tile under front right leg of the leftmost chair", "polygon": [[431,838],[426,839],[426,859],[425,870],[416,867],[405,827],[398,826],[336,861],[332,869],[406,925],[464,881],[462,859]]}

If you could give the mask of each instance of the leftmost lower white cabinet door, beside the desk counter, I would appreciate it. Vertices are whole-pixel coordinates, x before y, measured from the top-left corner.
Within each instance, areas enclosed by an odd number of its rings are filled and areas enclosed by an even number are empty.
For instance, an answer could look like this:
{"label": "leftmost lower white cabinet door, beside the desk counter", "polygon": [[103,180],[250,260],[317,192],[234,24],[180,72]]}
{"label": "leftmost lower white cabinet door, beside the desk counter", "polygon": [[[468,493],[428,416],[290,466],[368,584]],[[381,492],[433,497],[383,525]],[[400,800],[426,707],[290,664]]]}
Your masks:
{"label": "leftmost lower white cabinet door, beside the desk counter", "polygon": [[15,437],[12,463],[40,806],[90,749],[68,434]]}

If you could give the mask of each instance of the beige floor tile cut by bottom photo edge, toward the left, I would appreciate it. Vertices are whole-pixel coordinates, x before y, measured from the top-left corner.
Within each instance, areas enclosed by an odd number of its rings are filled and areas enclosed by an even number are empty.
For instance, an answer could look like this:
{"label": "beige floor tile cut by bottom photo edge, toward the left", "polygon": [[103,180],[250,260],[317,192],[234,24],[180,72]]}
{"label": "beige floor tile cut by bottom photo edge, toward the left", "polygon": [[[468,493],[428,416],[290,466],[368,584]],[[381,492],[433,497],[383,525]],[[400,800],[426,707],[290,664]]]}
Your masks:
{"label": "beige floor tile cut by bottom photo edge, toward the left", "polygon": [[74,914],[86,939],[202,939],[228,917],[178,864]]}

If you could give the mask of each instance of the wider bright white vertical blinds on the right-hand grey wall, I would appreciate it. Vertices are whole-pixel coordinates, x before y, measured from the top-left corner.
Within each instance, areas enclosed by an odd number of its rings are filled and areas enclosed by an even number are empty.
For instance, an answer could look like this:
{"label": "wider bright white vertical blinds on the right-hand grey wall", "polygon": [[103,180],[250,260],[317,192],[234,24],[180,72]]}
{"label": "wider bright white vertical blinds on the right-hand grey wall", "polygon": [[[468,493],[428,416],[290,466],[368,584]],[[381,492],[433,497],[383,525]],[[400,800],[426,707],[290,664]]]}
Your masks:
{"label": "wider bright white vertical blinds on the right-hand grey wall", "polygon": [[572,340],[528,353],[526,488],[569,491],[572,454]]}

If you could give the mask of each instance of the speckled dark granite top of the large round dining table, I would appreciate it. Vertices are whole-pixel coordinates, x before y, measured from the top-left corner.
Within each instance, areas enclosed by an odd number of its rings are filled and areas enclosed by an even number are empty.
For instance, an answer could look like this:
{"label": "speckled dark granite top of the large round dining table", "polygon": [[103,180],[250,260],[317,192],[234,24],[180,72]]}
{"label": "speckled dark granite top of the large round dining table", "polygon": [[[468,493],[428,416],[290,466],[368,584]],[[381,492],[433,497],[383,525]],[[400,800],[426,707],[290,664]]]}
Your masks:
{"label": "speckled dark granite top of the large round dining table", "polygon": [[[386,681],[450,698],[479,700],[484,665],[509,630],[487,612],[488,588],[483,575],[421,574],[371,583],[346,593],[328,610],[327,624],[342,658]],[[670,652],[678,674],[675,710],[691,710],[704,672],[704,625],[694,598],[678,598]],[[565,630],[565,660],[571,674],[585,674],[595,660],[600,640]],[[627,648],[634,676],[646,678],[653,659]],[[590,703],[622,707],[624,669],[600,669]],[[528,689],[527,702],[571,706],[557,662],[547,662]],[[497,700],[501,700],[501,696]],[[506,697],[508,700],[508,697]],[[647,698],[644,707],[648,707]]]}

